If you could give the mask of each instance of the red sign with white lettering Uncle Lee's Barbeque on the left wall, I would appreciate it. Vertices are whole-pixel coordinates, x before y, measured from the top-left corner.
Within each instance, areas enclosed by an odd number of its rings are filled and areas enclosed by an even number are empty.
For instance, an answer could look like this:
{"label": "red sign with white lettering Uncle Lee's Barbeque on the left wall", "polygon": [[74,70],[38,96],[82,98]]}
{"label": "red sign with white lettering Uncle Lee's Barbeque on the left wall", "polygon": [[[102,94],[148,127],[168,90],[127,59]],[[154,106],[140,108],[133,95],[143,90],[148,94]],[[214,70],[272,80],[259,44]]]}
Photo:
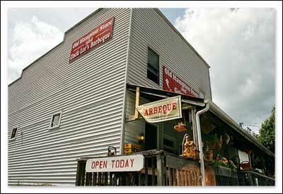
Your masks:
{"label": "red sign with white lettering Uncle Lee's Barbeque on the left wall", "polygon": [[88,34],[84,35],[79,40],[76,40],[71,46],[69,62],[110,40],[112,38],[113,22],[114,18],[110,18],[91,30],[91,32],[88,32]]}

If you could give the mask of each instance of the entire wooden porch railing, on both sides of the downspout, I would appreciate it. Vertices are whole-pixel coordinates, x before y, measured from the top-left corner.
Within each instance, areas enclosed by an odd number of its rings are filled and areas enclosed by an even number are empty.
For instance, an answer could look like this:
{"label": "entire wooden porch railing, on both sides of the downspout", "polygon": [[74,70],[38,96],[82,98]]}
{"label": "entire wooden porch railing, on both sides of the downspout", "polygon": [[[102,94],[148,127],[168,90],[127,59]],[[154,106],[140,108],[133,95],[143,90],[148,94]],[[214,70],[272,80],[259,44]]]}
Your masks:
{"label": "entire wooden porch railing, on both sides of the downspout", "polygon": [[[86,172],[88,158],[78,159],[76,186],[201,186],[200,165],[196,161],[163,150],[133,154],[144,156],[141,171]],[[214,165],[206,165],[205,171],[207,186],[275,185],[274,178],[254,171],[236,171]]]}

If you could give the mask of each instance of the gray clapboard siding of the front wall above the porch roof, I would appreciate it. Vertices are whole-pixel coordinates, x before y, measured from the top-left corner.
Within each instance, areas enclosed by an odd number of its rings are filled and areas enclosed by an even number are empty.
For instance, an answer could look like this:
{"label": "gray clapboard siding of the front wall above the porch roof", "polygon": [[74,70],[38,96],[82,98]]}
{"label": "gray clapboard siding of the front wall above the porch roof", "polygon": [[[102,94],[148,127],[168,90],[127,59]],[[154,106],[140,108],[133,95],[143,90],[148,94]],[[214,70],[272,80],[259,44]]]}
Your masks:
{"label": "gray clapboard siding of the front wall above the porch roof", "polygon": [[[152,8],[134,8],[127,83],[162,89],[163,65],[211,99],[209,66]],[[147,47],[159,54],[160,85],[146,78]]]}

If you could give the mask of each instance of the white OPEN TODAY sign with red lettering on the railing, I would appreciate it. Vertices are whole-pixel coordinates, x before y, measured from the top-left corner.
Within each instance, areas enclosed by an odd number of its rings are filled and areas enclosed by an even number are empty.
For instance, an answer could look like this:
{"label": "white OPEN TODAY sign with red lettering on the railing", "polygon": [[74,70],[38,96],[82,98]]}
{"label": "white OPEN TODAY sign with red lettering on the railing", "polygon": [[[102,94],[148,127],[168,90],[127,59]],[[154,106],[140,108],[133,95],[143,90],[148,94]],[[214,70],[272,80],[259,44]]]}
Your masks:
{"label": "white OPEN TODAY sign with red lettering on the railing", "polygon": [[141,154],[121,157],[100,157],[86,161],[87,172],[140,171],[143,168],[144,156]]}

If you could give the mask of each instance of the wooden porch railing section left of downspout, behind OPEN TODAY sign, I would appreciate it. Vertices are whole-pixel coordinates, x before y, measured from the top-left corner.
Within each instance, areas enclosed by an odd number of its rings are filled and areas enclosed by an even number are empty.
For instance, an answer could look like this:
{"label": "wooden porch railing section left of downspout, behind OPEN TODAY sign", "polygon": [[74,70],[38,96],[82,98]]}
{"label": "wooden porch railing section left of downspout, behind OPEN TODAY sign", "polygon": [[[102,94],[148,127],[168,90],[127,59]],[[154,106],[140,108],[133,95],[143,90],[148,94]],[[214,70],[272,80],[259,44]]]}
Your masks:
{"label": "wooden porch railing section left of downspout, behind OPEN TODAY sign", "polygon": [[132,172],[86,172],[86,160],[78,159],[76,186],[200,186],[197,162],[165,151],[150,150],[144,155],[144,169]]}

